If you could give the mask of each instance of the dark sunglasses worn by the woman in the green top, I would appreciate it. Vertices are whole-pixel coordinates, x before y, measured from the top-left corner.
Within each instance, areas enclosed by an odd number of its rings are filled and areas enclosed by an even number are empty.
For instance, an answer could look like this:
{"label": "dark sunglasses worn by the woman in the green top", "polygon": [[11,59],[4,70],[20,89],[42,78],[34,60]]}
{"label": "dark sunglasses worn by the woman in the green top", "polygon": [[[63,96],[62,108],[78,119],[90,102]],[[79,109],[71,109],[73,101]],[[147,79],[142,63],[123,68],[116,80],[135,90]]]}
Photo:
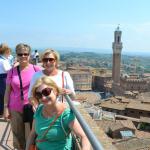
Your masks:
{"label": "dark sunglasses worn by the woman in the green top", "polygon": [[35,97],[41,99],[42,96],[49,96],[51,94],[52,88],[45,88],[41,92],[35,92]]}

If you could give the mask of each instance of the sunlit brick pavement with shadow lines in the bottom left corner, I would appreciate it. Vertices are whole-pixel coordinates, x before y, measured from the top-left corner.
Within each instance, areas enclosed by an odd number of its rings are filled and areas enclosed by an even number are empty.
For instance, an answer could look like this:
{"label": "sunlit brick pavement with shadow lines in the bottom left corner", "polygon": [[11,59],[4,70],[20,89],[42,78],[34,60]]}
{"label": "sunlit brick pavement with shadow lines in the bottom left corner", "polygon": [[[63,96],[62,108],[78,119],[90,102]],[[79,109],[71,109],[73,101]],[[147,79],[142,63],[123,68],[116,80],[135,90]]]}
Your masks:
{"label": "sunlit brick pavement with shadow lines in the bottom left corner", "polygon": [[13,150],[10,123],[0,118],[0,150]]}

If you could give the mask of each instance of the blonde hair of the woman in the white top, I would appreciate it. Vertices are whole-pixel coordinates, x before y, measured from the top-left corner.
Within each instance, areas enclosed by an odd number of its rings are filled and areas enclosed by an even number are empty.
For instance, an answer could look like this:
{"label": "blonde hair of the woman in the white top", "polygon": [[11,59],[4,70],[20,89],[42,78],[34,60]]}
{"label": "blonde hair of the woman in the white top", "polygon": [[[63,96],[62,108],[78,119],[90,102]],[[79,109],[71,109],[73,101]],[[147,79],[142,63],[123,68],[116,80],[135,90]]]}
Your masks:
{"label": "blonde hair of the woman in the white top", "polygon": [[49,54],[53,54],[53,56],[56,60],[56,67],[58,67],[60,56],[59,56],[59,53],[57,51],[55,51],[54,49],[51,49],[51,48],[46,49],[41,55],[41,60],[43,60],[43,58]]}

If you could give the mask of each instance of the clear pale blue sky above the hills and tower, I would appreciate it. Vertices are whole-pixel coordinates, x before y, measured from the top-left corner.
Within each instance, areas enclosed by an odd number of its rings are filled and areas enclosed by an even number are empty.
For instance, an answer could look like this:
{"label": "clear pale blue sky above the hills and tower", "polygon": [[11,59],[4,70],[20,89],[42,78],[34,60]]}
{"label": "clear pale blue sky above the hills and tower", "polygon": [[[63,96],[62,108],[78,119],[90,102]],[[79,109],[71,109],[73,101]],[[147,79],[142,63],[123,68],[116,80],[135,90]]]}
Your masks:
{"label": "clear pale blue sky above the hills and tower", "polygon": [[0,0],[0,42],[15,47],[150,52],[150,0]]}

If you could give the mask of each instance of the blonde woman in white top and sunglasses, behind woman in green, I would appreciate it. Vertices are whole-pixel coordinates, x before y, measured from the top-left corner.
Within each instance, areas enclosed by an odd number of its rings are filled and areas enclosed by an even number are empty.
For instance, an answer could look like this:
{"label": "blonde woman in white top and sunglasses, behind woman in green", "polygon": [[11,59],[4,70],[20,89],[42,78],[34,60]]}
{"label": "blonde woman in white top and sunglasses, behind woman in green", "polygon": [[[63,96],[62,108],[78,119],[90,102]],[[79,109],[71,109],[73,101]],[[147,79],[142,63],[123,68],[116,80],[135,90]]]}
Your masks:
{"label": "blonde woman in white top and sunglasses, behind woman in green", "polygon": [[[36,80],[42,76],[49,76],[52,80],[56,82],[59,87],[63,88],[63,92],[65,94],[69,94],[69,96],[71,96],[71,98],[73,99],[75,97],[73,80],[67,71],[62,71],[58,69],[58,52],[53,49],[46,49],[41,56],[41,60],[44,70],[41,70],[34,74],[30,83],[28,94],[30,102],[34,106],[34,108],[36,109],[36,103],[35,101],[33,101],[31,90]],[[58,100],[62,101],[62,97],[59,97]]]}

